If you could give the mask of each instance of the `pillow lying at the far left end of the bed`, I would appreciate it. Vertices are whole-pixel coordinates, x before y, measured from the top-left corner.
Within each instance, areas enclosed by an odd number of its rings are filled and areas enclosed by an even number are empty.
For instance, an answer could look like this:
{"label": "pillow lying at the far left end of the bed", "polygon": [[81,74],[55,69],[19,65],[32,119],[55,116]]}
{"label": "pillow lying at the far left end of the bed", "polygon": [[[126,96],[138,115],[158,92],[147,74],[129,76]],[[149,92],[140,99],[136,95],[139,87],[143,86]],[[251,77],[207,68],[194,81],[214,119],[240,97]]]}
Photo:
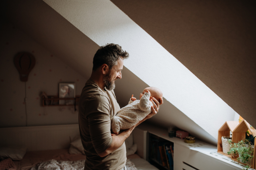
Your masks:
{"label": "pillow lying at the far left end of the bed", "polygon": [[26,148],[0,147],[0,159],[11,158],[14,161],[20,161],[26,153]]}

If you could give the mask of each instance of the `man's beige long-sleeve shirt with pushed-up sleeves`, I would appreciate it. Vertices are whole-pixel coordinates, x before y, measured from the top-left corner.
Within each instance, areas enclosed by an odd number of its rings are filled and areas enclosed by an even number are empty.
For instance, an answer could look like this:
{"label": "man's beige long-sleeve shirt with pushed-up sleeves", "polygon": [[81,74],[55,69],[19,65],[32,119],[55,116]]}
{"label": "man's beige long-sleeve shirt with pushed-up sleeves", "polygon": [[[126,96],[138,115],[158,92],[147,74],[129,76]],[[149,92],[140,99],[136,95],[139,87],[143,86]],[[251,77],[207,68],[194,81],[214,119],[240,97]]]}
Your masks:
{"label": "man's beige long-sleeve shirt with pushed-up sleeves", "polygon": [[111,119],[120,110],[114,91],[102,90],[88,80],[79,100],[79,130],[86,170],[121,170],[126,163],[125,143],[108,156],[100,157],[112,143]]}

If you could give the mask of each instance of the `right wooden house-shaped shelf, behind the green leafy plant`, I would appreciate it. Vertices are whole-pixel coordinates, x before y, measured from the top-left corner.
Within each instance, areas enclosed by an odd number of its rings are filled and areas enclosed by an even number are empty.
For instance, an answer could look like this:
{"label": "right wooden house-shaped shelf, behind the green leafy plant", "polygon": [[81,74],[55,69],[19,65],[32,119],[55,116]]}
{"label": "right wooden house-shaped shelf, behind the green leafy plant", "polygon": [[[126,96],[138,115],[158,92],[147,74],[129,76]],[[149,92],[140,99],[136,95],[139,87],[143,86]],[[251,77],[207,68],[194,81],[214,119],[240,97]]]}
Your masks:
{"label": "right wooden house-shaped shelf, behind the green leafy plant", "polygon": [[[256,136],[256,130],[253,127],[250,127],[250,124],[246,122],[244,119],[237,125],[237,127],[233,130],[232,135],[232,142],[239,142],[242,139],[245,139],[245,135],[247,130],[254,136]],[[255,148],[256,140],[254,140],[254,155],[253,155],[253,161],[251,164],[251,168],[255,169],[255,156],[256,156],[256,148]],[[233,156],[231,157],[232,160],[237,161],[236,158]],[[242,163],[241,163],[242,164]]]}

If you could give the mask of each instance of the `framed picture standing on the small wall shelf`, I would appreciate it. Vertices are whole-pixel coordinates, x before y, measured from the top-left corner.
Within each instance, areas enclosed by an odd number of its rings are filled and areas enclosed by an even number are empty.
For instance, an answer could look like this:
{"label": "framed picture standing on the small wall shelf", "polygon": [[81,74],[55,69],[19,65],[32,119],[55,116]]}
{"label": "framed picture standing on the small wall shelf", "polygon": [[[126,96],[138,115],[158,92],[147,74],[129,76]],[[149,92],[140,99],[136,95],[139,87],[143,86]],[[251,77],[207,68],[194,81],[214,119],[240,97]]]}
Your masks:
{"label": "framed picture standing on the small wall shelf", "polygon": [[[75,83],[59,83],[59,98],[75,98]],[[59,100],[60,105],[74,105],[75,100]]]}

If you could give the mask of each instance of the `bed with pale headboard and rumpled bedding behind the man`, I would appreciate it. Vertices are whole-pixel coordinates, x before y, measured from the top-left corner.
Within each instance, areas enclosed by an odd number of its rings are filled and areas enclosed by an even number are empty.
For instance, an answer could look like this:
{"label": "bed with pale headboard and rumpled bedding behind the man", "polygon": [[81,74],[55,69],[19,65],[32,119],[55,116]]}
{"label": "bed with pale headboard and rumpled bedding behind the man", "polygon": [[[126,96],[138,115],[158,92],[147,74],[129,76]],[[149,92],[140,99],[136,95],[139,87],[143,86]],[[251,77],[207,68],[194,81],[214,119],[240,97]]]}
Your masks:
{"label": "bed with pale headboard and rumpled bedding behind the man", "polygon": [[[11,160],[14,168],[10,170],[83,170],[86,156],[79,153],[79,147],[72,145],[79,136],[77,124],[0,128],[0,136],[0,147],[26,147],[22,160]],[[137,145],[136,153],[127,156],[128,170],[158,170],[145,160],[146,138],[146,131],[135,128],[132,139],[126,141],[127,145],[131,145],[131,150],[128,150],[132,153],[134,145]],[[70,152],[71,147],[73,152]]]}

